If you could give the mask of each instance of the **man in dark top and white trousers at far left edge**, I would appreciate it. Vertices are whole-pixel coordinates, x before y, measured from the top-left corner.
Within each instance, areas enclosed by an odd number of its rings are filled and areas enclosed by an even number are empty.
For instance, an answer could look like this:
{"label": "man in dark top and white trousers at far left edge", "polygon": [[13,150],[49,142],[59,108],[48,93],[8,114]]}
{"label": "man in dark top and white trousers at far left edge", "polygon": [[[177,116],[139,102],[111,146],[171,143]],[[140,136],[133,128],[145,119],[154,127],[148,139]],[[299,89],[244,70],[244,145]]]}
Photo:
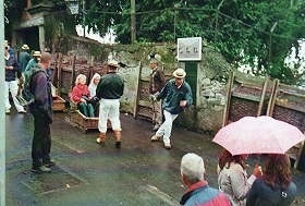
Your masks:
{"label": "man in dark top and white trousers at far left edge", "polygon": [[[14,56],[9,53],[9,46],[4,44],[5,82],[4,82],[4,106],[5,113],[11,112],[9,93],[11,92],[14,105],[19,113],[26,113],[23,106],[19,102],[16,95],[19,90],[17,77],[21,78],[20,65]],[[16,76],[17,75],[17,76]]]}

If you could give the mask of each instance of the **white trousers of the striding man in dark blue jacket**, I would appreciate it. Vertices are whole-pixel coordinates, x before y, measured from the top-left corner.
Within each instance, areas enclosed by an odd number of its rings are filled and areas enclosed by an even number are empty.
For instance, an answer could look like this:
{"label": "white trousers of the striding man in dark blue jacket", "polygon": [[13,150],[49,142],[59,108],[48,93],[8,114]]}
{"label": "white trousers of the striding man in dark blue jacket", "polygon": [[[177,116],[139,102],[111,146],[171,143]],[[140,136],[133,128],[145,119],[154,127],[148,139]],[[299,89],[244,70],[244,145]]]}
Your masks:
{"label": "white trousers of the striding man in dark blue jacket", "polygon": [[172,114],[166,110],[163,110],[166,121],[161,124],[159,130],[156,132],[157,136],[163,136],[164,143],[170,143],[170,136],[172,131],[172,122],[175,120],[178,114]]}

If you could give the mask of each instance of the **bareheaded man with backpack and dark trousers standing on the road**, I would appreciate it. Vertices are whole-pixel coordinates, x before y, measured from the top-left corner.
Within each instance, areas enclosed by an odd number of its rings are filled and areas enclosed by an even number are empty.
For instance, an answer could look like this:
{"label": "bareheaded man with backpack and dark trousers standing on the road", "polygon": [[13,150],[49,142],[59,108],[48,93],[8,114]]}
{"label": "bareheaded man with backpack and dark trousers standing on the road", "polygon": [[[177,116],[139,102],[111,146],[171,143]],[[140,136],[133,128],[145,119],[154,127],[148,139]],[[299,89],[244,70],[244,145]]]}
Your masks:
{"label": "bareheaded man with backpack and dark trousers standing on the road", "polygon": [[50,123],[52,123],[52,96],[50,77],[46,70],[51,65],[51,54],[44,52],[40,62],[33,70],[40,70],[29,84],[30,92],[35,96],[35,101],[29,105],[30,113],[34,117],[34,138],[32,144],[33,171],[50,172],[48,167],[54,162],[50,159],[51,134]]}

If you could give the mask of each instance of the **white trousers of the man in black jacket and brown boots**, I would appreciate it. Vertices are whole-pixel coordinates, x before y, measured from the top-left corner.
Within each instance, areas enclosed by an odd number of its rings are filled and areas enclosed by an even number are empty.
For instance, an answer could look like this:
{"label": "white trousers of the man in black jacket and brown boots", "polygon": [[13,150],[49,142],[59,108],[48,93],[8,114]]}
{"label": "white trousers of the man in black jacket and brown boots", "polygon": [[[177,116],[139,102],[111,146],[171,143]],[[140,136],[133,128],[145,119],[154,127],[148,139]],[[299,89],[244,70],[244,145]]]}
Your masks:
{"label": "white trousers of the man in black jacket and brown boots", "polygon": [[100,99],[99,100],[99,132],[107,132],[107,121],[111,122],[112,130],[121,131],[120,121],[120,100],[119,99]]}

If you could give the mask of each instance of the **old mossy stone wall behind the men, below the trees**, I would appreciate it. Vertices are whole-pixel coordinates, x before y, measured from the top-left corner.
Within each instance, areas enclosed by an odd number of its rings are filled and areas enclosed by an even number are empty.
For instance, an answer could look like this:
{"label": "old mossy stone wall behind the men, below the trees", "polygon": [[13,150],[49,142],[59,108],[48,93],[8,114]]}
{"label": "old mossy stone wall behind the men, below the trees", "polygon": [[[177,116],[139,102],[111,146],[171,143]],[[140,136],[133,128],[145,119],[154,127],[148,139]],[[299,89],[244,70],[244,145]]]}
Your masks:
{"label": "old mossy stone wall behind the men, below the trees", "polygon": [[[184,62],[178,62],[175,45],[100,45],[94,40],[81,37],[69,38],[66,53],[90,58],[105,63],[108,59],[115,59],[122,63],[119,74],[124,77],[125,90],[121,98],[121,110],[133,113],[136,102],[136,89],[142,63],[142,78],[149,78],[149,54],[159,53],[167,78],[178,68],[184,68]],[[197,99],[193,106],[185,109],[175,120],[175,124],[197,131],[218,131],[221,128],[223,108],[225,104],[225,81],[230,65],[224,58],[208,47],[203,48],[203,59],[197,70]]]}

